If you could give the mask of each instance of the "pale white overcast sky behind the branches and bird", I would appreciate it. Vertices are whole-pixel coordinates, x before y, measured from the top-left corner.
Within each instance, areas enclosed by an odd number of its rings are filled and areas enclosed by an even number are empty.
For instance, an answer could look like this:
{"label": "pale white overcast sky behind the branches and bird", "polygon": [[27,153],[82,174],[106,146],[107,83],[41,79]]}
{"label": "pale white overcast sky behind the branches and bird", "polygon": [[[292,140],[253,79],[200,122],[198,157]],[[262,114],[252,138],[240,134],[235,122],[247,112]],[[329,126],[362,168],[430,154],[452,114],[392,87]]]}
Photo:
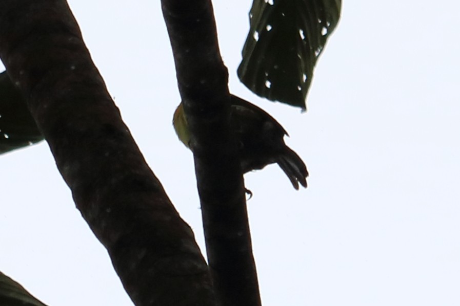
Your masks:
{"label": "pale white overcast sky behind the branches and bird", "polygon": [[[203,247],[191,153],[159,1],[69,1],[115,103]],[[215,1],[230,90],[274,115],[306,161],[245,176],[265,306],[459,305],[460,6],[346,2],[316,67],[308,112],[236,77],[249,0]],[[0,271],[51,305],[132,305],[75,209],[46,143],[0,157]]]}

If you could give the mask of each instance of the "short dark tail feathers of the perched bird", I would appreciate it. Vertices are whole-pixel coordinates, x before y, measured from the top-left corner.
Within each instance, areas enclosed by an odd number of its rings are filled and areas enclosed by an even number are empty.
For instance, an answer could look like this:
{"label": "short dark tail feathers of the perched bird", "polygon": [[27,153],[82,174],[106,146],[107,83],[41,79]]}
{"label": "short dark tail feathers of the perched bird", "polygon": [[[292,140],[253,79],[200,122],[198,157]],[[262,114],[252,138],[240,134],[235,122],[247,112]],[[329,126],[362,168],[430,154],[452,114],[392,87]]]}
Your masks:
{"label": "short dark tail feathers of the perched bird", "polygon": [[279,156],[277,163],[286,173],[286,176],[289,178],[295,189],[298,190],[299,183],[307,188],[307,167],[296,152],[286,146],[283,154]]}

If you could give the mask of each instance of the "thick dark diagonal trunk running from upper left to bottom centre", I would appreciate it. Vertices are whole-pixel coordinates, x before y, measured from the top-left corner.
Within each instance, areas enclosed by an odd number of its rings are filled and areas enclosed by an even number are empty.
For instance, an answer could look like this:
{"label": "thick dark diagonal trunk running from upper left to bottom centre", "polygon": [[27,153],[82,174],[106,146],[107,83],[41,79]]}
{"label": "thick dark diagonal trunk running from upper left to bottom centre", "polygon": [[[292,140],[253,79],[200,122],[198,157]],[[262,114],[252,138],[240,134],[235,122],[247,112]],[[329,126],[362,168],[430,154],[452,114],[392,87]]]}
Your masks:
{"label": "thick dark diagonal trunk running from upper left to bottom centre", "polygon": [[1,1],[0,57],[135,304],[215,305],[193,233],[123,123],[66,1]]}

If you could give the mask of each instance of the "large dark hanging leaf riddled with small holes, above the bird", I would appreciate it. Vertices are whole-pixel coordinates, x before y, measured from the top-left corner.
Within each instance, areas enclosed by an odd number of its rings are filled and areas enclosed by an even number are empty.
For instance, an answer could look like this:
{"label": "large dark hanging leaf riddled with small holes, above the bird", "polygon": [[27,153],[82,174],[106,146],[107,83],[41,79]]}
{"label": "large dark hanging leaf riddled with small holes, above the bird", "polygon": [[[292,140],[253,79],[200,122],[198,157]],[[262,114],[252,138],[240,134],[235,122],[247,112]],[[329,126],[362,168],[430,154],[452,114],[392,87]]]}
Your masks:
{"label": "large dark hanging leaf riddled with small holes, above the bird", "polygon": [[261,97],[305,110],[313,68],[341,6],[341,0],[254,0],[239,79]]}

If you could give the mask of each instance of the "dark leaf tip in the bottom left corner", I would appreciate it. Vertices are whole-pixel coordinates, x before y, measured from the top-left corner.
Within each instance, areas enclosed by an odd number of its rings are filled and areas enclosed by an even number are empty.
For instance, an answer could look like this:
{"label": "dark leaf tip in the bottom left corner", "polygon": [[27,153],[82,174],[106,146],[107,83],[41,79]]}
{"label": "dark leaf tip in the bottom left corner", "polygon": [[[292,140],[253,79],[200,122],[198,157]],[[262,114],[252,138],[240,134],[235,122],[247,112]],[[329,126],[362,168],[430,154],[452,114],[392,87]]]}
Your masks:
{"label": "dark leaf tip in the bottom left corner", "polygon": [[0,305],[46,306],[17,282],[0,272]]}

